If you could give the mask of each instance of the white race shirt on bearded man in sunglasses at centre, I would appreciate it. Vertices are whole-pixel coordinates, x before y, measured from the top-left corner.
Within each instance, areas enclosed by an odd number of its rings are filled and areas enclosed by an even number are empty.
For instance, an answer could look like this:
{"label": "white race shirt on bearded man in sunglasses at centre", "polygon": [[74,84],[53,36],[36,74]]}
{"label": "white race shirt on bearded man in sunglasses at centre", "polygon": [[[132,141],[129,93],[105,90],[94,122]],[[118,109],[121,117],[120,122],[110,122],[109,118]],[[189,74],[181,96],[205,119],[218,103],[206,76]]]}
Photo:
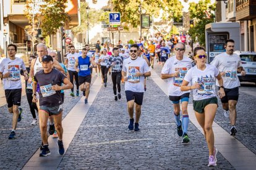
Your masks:
{"label": "white race shirt on bearded man in sunglasses at centre", "polygon": [[124,60],[122,64],[122,71],[127,73],[127,81],[124,86],[125,91],[132,92],[145,92],[144,89],[144,77],[143,76],[135,76],[137,71],[140,73],[147,73],[150,71],[148,64],[141,57],[137,57],[136,60],[130,59],[130,57]]}

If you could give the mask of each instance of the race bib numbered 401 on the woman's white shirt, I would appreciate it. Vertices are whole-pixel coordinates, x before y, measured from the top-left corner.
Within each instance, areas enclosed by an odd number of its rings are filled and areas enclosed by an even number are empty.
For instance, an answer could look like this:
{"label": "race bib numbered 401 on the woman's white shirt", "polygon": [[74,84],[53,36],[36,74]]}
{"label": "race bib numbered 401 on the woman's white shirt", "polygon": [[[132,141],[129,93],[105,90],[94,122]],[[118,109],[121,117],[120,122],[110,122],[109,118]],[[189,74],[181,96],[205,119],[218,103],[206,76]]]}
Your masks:
{"label": "race bib numbered 401 on the woman's white shirt", "polygon": [[214,93],[214,86],[215,81],[214,78],[202,78],[201,86],[197,89],[198,94],[213,94]]}

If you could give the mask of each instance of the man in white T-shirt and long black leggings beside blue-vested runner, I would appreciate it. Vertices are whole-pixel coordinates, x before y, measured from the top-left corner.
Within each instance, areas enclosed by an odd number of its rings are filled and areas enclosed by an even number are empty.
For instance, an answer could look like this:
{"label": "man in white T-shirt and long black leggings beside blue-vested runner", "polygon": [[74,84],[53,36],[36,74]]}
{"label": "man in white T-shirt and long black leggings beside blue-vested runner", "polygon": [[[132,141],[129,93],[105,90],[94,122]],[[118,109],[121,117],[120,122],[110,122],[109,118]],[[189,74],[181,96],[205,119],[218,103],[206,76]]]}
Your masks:
{"label": "man in white T-shirt and long black leggings beside blue-vested runner", "polygon": [[67,70],[69,70],[70,82],[73,84],[73,88],[71,89],[70,95],[75,97],[74,94],[74,77],[75,77],[75,84],[77,86],[77,96],[79,96],[79,80],[78,80],[78,73],[75,71],[75,60],[79,57],[77,53],[75,53],[75,47],[70,46],[70,53],[67,54],[65,65],[67,65]]}

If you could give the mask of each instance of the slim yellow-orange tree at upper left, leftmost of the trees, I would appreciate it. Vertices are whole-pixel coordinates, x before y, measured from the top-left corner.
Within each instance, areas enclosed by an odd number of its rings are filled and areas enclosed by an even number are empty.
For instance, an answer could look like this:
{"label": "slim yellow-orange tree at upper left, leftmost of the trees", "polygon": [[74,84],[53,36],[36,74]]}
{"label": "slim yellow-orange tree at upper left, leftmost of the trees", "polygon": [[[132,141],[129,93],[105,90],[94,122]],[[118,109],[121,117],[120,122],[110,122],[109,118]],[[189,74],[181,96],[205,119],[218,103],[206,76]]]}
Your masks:
{"label": "slim yellow-orange tree at upper left, leftmost of the trees", "polygon": [[28,0],[27,5],[25,6],[24,14],[28,18],[28,25],[25,26],[25,32],[31,39],[31,51],[34,54],[34,46],[36,41],[36,35],[40,27],[40,4],[42,0]]}

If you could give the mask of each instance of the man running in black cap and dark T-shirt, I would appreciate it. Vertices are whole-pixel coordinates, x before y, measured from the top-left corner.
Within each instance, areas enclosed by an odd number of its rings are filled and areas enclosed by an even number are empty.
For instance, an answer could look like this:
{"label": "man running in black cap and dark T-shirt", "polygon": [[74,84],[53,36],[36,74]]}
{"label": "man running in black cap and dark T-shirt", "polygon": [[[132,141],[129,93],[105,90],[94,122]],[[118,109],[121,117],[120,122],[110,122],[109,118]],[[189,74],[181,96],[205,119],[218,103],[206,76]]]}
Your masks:
{"label": "man running in black cap and dark T-shirt", "polygon": [[[66,78],[60,71],[53,69],[53,57],[45,55],[42,59],[43,70],[38,71],[35,74],[33,81],[33,102],[38,102],[36,99],[37,84],[40,84],[40,131],[41,139],[43,141],[43,150],[40,156],[51,155],[48,148],[48,136],[47,136],[47,121],[49,116],[54,118],[55,128],[58,133],[58,146],[59,154],[63,155],[65,150],[62,142],[62,99],[61,90],[71,89],[72,83]],[[61,84],[64,83],[63,86]]]}

